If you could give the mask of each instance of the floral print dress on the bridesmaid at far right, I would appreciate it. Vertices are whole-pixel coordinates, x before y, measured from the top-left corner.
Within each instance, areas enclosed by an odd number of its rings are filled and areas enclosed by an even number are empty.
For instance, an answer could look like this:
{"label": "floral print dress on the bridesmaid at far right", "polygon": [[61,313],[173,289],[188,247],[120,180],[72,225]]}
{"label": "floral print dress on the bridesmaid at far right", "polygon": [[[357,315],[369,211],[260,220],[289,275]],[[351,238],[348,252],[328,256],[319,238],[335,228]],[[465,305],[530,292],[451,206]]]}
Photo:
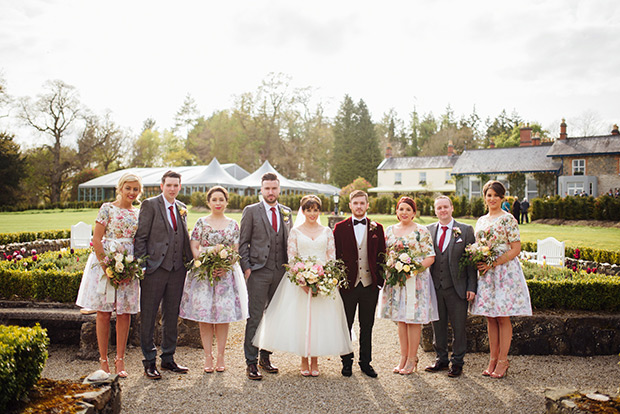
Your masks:
{"label": "floral print dress on the bridesmaid at far right", "polygon": [[[510,243],[520,240],[519,225],[511,214],[482,216],[476,223],[476,241],[481,237],[499,243],[498,253],[510,250]],[[471,305],[474,315],[490,317],[531,315],[530,292],[518,258],[478,273],[478,292]]]}

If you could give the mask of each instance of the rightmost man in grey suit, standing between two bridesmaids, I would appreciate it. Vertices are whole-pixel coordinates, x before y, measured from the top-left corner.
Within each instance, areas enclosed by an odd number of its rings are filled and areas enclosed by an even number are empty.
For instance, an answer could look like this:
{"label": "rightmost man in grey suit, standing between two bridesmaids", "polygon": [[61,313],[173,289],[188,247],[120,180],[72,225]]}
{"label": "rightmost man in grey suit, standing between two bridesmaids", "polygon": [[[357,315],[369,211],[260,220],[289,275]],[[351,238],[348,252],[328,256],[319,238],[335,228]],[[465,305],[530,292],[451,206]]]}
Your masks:
{"label": "rightmost man in grey suit, standing between two bridesmaids", "polygon": [[[458,377],[463,372],[463,358],[467,351],[467,302],[476,297],[478,279],[473,266],[463,268],[459,265],[465,247],[476,241],[474,229],[468,224],[455,221],[452,218],[453,211],[450,198],[437,197],[435,215],[439,222],[428,226],[435,246],[435,263],[430,270],[437,293],[439,320],[433,322],[433,346],[437,357],[433,365],[426,367],[426,371],[448,369],[449,377]],[[450,360],[448,321],[452,326],[453,337]]]}

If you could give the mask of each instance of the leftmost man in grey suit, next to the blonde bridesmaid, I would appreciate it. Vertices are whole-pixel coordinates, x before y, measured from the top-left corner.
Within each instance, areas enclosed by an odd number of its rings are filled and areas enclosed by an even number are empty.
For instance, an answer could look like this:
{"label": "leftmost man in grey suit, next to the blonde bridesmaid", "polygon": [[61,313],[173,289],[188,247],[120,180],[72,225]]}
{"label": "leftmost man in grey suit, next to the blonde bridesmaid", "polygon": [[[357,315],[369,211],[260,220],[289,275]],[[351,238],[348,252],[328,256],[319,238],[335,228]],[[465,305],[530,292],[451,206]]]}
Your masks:
{"label": "leftmost man in grey suit, next to the blonde bridesmaid", "polygon": [[140,345],[144,374],[160,379],[153,340],[155,319],[161,303],[161,367],[176,373],[187,368],[174,362],[177,346],[179,305],[185,284],[185,263],[192,259],[187,232],[187,207],[176,199],[181,190],[181,174],[166,172],[161,178],[161,194],[142,202],[134,240],[136,257],[147,257],[146,272],[140,282]]}

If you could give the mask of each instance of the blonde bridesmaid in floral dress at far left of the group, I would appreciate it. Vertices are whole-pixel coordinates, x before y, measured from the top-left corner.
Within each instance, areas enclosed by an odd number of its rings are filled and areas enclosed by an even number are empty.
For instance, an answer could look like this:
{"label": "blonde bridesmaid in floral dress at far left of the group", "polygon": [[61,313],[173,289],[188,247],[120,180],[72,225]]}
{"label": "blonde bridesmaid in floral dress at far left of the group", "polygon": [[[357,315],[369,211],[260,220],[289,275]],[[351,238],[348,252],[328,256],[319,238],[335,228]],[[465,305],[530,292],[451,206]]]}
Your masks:
{"label": "blonde bridesmaid in floral dress at far left of the group", "polygon": [[119,377],[127,377],[125,349],[131,314],[140,312],[140,281],[121,285],[118,289],[105,276],[103,260],[111,251],[133,254],[133,238],[138,229],[138,210],[132,207],[142,194],[142,180],[126,173],[116,185],[116,201],[103,203],[95,219],[93,252],[88,257],[76,303],[86,310],[96,310],[97,344],[101,369],[110,372],[108,340],[110,317],[116,311],[116,357],[114,366]]}

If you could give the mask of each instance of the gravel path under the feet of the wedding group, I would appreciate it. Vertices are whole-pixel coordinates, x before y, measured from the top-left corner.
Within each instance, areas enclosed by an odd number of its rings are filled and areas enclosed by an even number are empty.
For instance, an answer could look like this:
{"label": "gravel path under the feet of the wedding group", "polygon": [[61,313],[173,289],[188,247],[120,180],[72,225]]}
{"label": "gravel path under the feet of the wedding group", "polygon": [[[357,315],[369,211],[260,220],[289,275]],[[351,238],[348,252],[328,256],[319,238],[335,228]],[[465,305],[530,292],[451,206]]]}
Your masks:
{"label": "gravel path under the feet of the wedding group", "polygon": [[[303,378],[299,357],[276,352],[272,361],[280,373],[250,381],[243,358],[244,326],[231,325],[224,373],[203,373],[202,349],[180,347],[175,359],[189,366],[190,372],[178,375],[165,371],[161,380],[148,380],[142,374],[140,349],[129,349],[130,376],[121,380],[123,413],[542,413],[546,387],[615,395],[620,385],[615,355],[511,356],[508,376],[496,380],[480,375],[486,368],[487,354],[467,355],[463,376],[448,378],[445,371],[424,372],[434,353],[420,349],[420,372],[393,374],[391,369],[399,359],[398,338],[396,326],[386,320],[376,321],[373,336],[377,379],[368,378],[357,366],[352,377],[342,377],[340,358],[334,357],[319,359],[320,377]],[[43,376],[77,379],[98,369],[96,361],[78,360],[76,353],[77,348],[52,346]]]}

